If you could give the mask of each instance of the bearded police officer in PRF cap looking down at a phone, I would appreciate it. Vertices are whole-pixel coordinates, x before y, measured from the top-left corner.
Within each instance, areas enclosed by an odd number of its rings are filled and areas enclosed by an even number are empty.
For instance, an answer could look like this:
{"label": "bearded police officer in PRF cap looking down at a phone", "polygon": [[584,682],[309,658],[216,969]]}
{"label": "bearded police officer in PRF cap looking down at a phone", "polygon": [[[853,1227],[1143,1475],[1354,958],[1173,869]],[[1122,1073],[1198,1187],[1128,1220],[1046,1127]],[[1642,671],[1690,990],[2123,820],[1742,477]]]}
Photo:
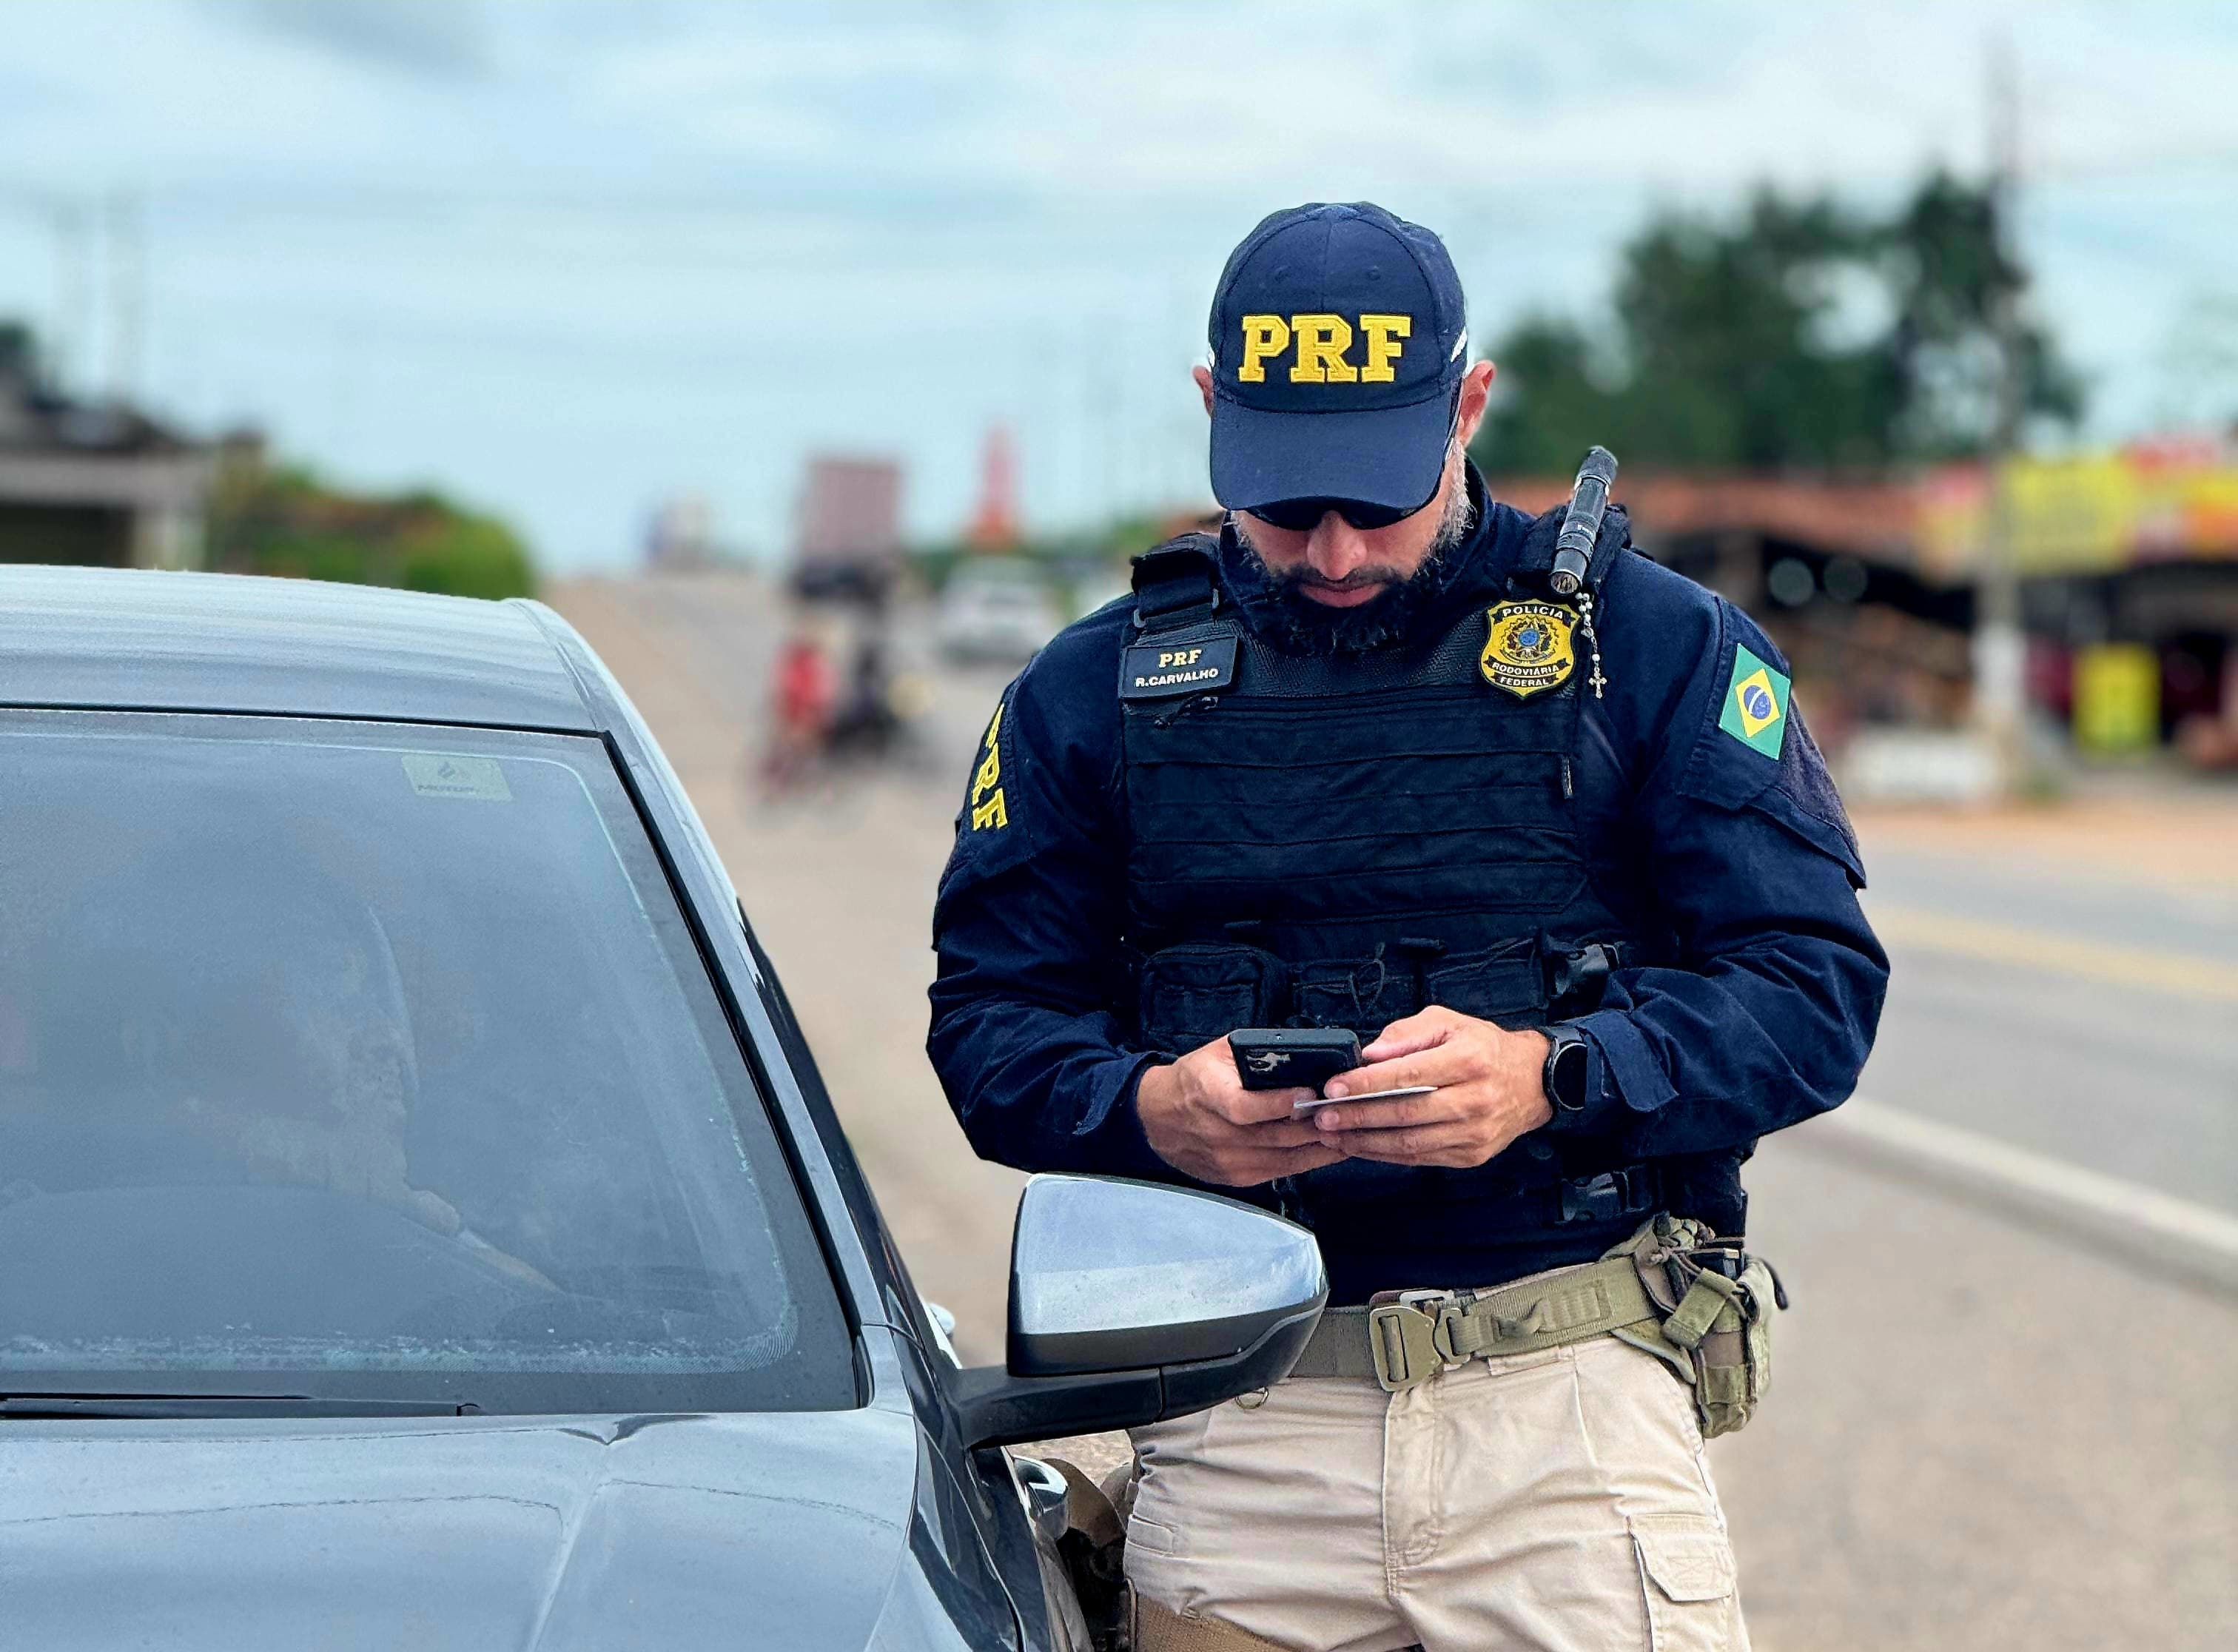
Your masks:
{"label": "bearded police officer in PRF cap looking down at a phone", "polygon": [[[1264,219],[1211,316],[1217,539],[1003,694],[933,918],[971,1144],[1309,1224],[1298,1372],[1135,1435],[1162,1645],[1746,1645],[1701,1442],[1766,1374],[1757,1139],[1840,1104],[1887,958],[1779,649],[1486,497],[1426,228]],[[1238,1027],[1363,1066],[1244,1090]],[[1723,1240],[1723,1245],[1712,1240]],[[1229,1636],[1229,1639],[1220,1639]]]}

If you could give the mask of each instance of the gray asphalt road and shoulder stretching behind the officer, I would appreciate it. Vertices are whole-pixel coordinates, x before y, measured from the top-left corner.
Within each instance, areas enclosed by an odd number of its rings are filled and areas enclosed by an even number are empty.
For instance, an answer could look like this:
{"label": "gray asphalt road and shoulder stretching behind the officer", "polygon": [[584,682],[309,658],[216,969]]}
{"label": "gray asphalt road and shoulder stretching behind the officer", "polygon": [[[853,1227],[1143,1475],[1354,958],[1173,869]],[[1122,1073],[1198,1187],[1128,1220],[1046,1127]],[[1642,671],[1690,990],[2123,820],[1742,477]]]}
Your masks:
{"label": "gray asphalt road and shoulder stretching behind the officer", "polygon": [[[1021,1177],[949,1119],[922,994],[933,877],[1005,672],[938,674],[920,772],[768,806],[743,775],[783,625],[768,586],[580,582],[555,602],[705,815],[920,1285],[967,1359],[998,1357]],[[1925,1121],[1981,1173],[1864,1151],[1849,1110],[1750,1166],[1752,1245],[1795,1296],[1764,1417],[1712,1446],[1755,1641],[2238,1645],[2238,1289],[1996,1191],[2014,1164],[2081,1175],[2225,1236],[2238,795],[1860,833],[1896,976],[1853,1117]]]}

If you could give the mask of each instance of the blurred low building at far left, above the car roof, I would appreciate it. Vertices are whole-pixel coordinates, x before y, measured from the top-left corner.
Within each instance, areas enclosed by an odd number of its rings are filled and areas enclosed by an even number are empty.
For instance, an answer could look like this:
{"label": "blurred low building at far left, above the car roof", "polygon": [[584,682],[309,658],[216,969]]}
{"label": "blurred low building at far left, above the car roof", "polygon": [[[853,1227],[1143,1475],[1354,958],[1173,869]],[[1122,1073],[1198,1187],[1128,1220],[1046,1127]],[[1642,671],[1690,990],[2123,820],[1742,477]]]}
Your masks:
{"label": "blurred low building at far left, above the car roof", "polygon": [[0,329],[0,562],[199,566],[213,457],[141,412],[47,387]]}

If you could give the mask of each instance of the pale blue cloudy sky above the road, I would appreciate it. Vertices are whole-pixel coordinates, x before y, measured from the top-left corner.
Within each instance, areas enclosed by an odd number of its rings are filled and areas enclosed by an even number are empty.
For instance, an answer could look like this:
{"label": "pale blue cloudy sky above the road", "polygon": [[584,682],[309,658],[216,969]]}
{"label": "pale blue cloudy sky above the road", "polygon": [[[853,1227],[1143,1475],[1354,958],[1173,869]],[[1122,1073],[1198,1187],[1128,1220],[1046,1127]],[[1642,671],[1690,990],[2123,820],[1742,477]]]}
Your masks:
{"label": "pale blue cloudy sky above the road", "polygon": [[777,553],[817,450],[902,459],[951,535],[994,423],[1065,528],[1204,497],[1186,374],[1267,210],[1437,228],[1479,342],[1591,318],[1652,210],[1978,170],[1999,38],[2088,437],[2227,412],[2207,0],[4,0],[0,316],[81,389],[441,486],[560,571],[678,495]]}

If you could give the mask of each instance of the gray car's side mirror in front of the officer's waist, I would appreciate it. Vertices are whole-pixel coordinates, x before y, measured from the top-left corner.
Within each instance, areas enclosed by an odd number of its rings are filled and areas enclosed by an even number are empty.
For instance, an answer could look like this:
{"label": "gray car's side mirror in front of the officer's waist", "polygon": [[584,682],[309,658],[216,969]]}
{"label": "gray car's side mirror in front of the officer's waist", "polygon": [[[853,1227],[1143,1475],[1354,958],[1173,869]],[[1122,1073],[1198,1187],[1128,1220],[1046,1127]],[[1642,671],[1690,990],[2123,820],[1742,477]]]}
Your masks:
{"label": "gray car's side mirror in front of the officer's waist", "polygon": [[1213,1193],[1036,1175],[1003,1365],[956,1372],[967,1444],[1132,1428],[1282,1381],[1329,1301],[1296,1222]]}

